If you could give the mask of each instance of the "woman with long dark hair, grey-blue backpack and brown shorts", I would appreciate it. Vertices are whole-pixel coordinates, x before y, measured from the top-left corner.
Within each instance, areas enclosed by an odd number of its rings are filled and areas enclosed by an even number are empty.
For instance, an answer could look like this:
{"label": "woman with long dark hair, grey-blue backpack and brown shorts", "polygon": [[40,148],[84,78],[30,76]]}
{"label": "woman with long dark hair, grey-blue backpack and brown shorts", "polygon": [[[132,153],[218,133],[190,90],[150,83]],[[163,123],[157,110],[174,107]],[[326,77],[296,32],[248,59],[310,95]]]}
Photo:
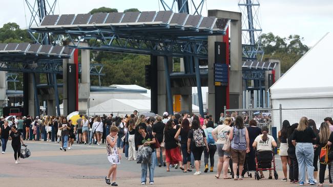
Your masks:
{"label": "woman with long dark hair, grey-blue backpack and brown shorts", "polygon": [[[229,139],[231,141],[230,153],[233,160],[234,180],[243,180],[241,173],[243,172],[246,153],[249,152],[249,136],[242,116],[237,115],[235,126],[230,131]],[[239,178],[236,175],[237,166],[240,174]]]}

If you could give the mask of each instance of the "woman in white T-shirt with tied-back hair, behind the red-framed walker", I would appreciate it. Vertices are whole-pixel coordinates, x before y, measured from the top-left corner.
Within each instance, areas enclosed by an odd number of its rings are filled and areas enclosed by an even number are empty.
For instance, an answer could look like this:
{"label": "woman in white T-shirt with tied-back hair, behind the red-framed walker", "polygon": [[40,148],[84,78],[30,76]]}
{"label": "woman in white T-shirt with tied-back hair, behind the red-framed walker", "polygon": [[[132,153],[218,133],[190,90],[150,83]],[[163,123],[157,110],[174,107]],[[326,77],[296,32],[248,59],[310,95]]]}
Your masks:
{"label": "woman in white T-shirt with tied-back hair, behind the red-framed walker", "polygon": [[[257,151],[272,151],[272,147],[278,147],[277,143],[273,136],[268,135],[268,128],[262,127],[261,128],[262,134],[258,135],[253,142],[253,147],[257,148]],[[262,171],[260,172],[260,178],[264,178]],[[269,179],[272,178],[272,170],[269,170]]]}

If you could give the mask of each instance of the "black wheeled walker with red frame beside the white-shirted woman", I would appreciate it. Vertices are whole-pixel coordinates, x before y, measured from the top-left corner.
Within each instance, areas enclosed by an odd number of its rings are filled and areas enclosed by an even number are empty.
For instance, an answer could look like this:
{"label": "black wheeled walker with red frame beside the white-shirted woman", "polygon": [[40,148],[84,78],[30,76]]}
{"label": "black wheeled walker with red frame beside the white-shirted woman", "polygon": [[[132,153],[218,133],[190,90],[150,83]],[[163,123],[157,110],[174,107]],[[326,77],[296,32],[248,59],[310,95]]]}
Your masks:
{"label": "black wheeled walker with red frame beside the white-shirted woman", "polygon": [[[260,175],[259,171],[267,171],[267,170],[274,170],[274,178],[278,180],[279,175],[276,172],[275,168],[275,157],[273,151],[256,151],[256,172],[255,172],[255,179],[259,180]],[[272,167],[273,163],[273,167]]]}

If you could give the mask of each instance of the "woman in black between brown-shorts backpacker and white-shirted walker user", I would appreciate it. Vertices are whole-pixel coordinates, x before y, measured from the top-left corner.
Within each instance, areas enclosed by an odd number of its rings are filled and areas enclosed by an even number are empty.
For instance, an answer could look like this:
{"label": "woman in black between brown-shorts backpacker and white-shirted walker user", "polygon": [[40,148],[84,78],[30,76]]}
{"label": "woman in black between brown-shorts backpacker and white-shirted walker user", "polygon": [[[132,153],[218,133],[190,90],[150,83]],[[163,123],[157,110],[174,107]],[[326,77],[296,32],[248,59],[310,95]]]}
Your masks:
{"label": "woman in black between brown-shorts backpacker and white-shirted walker user", "polygon": [[256,137],[261,134],[261,129],[257,127],[257,122],[255,120],[249,121],[249,126],[247,127],[248,136],[249,136],[249,148],[250,152],[248,153],[247,158],[247,166],[248,171],[255,171],[256,170],[256,162],[255,162],[255,150],[253,149],[253,142],[255,141]]}

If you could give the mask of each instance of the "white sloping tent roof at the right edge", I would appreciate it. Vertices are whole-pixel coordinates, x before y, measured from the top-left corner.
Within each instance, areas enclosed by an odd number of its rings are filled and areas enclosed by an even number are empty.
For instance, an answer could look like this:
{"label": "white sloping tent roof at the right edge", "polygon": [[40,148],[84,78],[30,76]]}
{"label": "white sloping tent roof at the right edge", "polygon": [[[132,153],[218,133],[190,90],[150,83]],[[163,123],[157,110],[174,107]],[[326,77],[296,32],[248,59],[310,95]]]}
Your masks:
{"label": "white sloping tent roof at the right edge", "polygon": [[333,34],[327,33],[273,86],[271,98],[315,98],[333,96]]}

